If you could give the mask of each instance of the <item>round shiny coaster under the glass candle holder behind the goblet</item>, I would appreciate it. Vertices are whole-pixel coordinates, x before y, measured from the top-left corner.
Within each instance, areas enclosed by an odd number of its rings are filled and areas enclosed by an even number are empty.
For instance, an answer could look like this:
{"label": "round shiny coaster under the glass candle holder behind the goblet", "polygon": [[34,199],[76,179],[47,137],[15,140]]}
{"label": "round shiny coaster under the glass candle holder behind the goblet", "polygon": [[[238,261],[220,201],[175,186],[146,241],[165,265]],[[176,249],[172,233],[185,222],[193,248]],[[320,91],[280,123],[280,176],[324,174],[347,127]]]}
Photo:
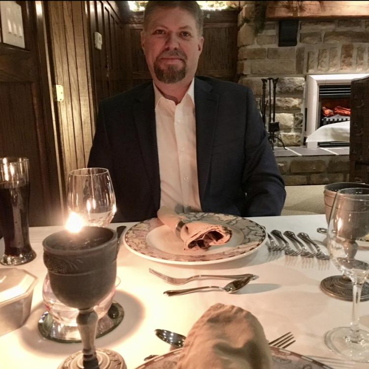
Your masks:
{"label": "round shiny coaster under the glass candle holder behind the goblet", "polygon": [[[96,338],[106,335],[118,327],[124,317],[123,307],[113,301],[108,312],[97,321]],[[38,331],[41,336],[61,343],[81,342],[77,325],[62,324],[53,318],[49,312],[44,312],[38,321]]]}

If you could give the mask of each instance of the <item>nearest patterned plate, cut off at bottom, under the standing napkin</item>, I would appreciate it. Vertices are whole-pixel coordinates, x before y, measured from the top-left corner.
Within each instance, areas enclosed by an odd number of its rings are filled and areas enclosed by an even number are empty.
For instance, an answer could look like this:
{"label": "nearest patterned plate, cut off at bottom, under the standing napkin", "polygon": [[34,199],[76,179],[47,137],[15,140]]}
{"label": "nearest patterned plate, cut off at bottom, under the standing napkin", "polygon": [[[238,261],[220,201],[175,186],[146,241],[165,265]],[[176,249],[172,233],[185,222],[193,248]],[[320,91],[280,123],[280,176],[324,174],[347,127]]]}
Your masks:
{"label": "nearest patterned plate, cut off at bottom, under the standing napkin", "polygon": [[[271,369],[332,369],[311,358],[296,354],[285,349],[271,347],[272,366]],[[170,351],[167,354],[156,356],[136,369],[175,369],[182,348]]]}

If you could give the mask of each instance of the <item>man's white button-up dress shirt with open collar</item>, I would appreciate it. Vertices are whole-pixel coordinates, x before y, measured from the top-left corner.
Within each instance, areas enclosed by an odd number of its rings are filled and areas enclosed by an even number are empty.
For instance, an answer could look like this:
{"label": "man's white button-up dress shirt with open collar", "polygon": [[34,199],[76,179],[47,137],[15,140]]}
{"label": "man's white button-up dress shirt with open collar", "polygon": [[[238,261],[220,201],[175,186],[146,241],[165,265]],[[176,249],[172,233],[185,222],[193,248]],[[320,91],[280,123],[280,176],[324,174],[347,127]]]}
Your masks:
{"label": "man's white button-up dress shirt with open collar", "polygon": [[201,211],[196,161],[194,80],[182,101],[166,99],[154,84],[160,206]]}

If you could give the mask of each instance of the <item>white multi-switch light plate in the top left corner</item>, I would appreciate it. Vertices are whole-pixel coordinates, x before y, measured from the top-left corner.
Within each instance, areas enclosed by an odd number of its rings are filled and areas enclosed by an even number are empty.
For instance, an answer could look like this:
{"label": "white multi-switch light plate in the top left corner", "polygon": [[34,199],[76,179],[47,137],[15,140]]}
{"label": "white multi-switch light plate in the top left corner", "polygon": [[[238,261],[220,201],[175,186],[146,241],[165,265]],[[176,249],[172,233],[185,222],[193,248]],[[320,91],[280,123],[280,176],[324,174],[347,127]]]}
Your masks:
{"label": "white multi-switch light plate in the top left corner", "polygon": [[25,47],[22,8],[15,1],[0,1],[2,42]]}

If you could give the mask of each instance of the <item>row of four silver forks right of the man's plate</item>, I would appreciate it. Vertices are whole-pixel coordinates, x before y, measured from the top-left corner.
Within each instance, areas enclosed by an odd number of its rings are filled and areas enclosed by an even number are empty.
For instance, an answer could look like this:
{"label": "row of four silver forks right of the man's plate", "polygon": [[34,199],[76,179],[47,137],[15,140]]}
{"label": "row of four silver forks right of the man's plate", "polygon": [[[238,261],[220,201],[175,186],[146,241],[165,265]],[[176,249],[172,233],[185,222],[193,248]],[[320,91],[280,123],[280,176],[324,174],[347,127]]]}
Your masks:
{"label": "row of four silver forks right of the man's plate", "polygon": [[[321,248],[310,239],[310,237],[304,233],[299,232],[297,236],[292,231],[284,231],[283,235],[292,241],[292,245],[294,245],[295,248],[292,248],[285,237],[283,237],[282,233],[278,231],[277,229],[274,229],[271,234],[279,240],[279,243],[277,243],[273,237],[268,233],[268,250],[269,251],[284,251],[286,255],[289,256],[303,256],[303,257],[315,257],[319,260],[329,260],[329,255],[326,254],[321,250]],[[306,245],[311,247],[310,249],[307,248],[307,246],[299,240],[303,240]]]}

